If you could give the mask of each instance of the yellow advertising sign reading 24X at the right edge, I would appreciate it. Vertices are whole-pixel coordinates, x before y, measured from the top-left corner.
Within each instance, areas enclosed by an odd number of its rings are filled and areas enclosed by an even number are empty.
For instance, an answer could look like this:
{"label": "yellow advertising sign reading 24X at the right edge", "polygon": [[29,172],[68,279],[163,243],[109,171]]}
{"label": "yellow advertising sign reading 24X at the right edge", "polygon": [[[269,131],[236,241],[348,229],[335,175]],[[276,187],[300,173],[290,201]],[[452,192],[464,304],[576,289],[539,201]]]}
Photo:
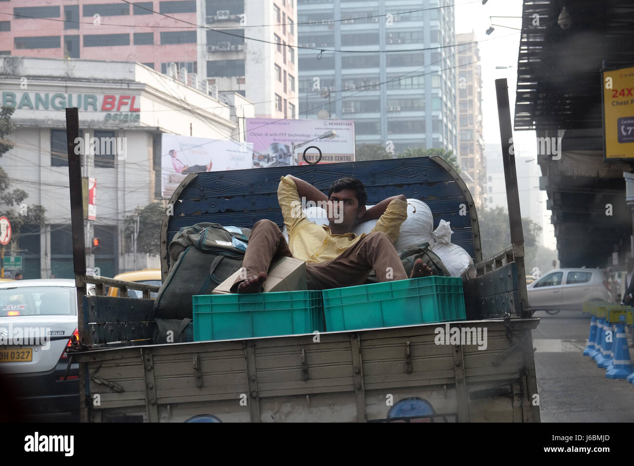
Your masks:
{"label": "yellow advertising sign reading 24X at the right edge", "polygon": [[604,71],[603,131],[606,159],[634,159],[634,68]]}

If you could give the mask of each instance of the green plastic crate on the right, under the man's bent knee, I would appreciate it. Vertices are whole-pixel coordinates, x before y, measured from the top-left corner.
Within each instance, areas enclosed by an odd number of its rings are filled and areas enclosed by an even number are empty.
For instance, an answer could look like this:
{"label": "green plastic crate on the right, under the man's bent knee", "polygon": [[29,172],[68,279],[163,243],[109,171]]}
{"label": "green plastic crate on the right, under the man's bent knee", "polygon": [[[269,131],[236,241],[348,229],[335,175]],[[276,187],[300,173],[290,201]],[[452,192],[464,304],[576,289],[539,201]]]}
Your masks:
{"label": "green plastic crate on the right, under the man's bent knee", "polygon": [[459,277],[427,276],[322,294],[328,332],[466,319]]}

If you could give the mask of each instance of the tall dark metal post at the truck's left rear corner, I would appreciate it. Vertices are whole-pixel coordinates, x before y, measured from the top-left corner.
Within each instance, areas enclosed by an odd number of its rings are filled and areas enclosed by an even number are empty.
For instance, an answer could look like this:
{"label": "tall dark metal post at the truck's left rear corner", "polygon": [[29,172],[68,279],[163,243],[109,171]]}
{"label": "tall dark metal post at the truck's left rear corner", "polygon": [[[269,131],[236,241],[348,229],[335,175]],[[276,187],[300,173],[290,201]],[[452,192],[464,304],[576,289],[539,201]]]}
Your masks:
{"label": "tall dark metal post at the truck's left rear corner", "polygon": [[[82,309],[86,296],[86,240],[84,237],[84,205],[82,200],[81,154],[76,153],[79,139],[79,110],[66,109],[66,143],[68,148],[68,184],[70,188],[70,225],[73,238],[73,269],[77,292],[77,327],[79,339],[84,332],[84,312]],[[87,383],[84,363],[79,363],[79,420],[87,422],[86,404],[81,393]]]}

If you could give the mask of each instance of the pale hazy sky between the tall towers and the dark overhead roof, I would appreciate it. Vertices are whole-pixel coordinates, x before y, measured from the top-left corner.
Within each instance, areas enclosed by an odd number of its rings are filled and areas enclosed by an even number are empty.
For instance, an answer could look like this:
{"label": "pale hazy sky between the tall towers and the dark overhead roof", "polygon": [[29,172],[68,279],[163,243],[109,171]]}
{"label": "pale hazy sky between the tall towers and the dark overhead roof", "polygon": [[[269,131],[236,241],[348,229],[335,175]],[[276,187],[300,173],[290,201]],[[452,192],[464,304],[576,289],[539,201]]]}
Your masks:
{"label": "pale hazy sky between the tall towers and the dark overhead roof", "polygon": [[[486,30],[491,24],[505,25],[520,29],[521,18],[491,18],[489,16],[521,16],[522,0],[489,0],[482,5],[480,0],[455,0],[456,34],[475,32],[479,41],[480,64],[482,67],[482,124],[484,142],[486,144],[500,144],[500,125],[498,122],[498,107],[495,97],[495,80],[506,78],[508,81],[508,97],[510,100],[511,120],[515,113],[515,91],[517,90],[517,55],[519,52],[520,31],[506,27],[494,26],[490,36]],[[498,70],[496,67],[512,67]],[[537,164],[537,148],[534,131],[514,131],[513,142],[515,154],[534,157],[531,164]],[[517,167],[518,176],[521,176]],[[540,180],[531,179],[531,186],[539,186]],[[538,188],[533,188],[539,191]],[[504,190],[504,186],[494,186],[494,190]],[[521,196],[522,193],[519,193]],[[550,223],[550,210],[546,210],[547,195],[540,192],[543,211],[543,244],[555,249],[555,236]]]}

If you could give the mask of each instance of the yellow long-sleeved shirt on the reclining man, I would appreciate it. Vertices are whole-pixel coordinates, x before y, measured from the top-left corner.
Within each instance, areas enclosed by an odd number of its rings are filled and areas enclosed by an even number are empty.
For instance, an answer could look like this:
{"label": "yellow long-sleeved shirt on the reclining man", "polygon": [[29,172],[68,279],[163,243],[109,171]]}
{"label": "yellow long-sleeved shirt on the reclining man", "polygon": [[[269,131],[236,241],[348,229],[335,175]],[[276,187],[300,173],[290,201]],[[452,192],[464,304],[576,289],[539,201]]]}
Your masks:
{"label": "yellow long-sleeved shirt on the reclining man", "polygon": [[[306,262],[327,262],[358,242],[365,233],[333,235],[327,225],[308,221],[301,208],[295,182],[283,176],[278,186],[278,201],[288,231],[288,247],[293,257]],[[394,199],[385,209],[372,231],[387,233],[392,242],[398,239],[401,224],[407,218],[407,203]]]}

